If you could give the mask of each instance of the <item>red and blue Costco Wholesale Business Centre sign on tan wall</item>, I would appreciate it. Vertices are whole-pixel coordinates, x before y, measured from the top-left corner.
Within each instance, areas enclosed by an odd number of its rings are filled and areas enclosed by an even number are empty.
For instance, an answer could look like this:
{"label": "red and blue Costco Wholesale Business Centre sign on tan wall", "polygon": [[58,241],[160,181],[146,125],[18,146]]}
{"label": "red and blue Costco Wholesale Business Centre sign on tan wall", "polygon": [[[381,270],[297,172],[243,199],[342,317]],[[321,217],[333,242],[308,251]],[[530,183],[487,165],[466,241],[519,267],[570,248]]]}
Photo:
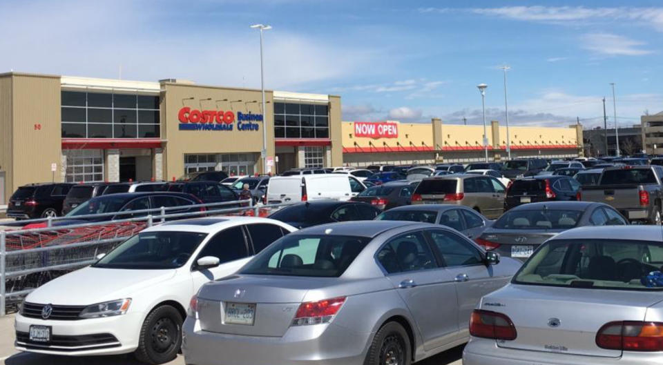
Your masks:
{"label": "red and blue Costco Wholesale Business Centre sign on tan wall", "polygon": [[[262,114],[251,112],[243,113],[223,110],[198,110],[188,106],[177,113],[180,119],[180,130],[258,130],[260,124],[253,121],[262,121]],[[237,121],[237,123],[235,123]]]}

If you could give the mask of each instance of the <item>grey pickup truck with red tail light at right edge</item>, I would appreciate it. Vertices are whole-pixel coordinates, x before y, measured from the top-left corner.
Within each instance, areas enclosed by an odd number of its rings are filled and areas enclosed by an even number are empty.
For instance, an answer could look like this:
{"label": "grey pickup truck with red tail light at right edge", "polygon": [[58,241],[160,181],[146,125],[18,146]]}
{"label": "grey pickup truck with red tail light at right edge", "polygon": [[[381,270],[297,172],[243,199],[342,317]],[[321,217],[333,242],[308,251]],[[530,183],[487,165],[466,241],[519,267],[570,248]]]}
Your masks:
{"label": "grey pickup truck with red tail light at right edge", "polygon": [[631,222],[661,224],[662,166],[615,166],[603,170],[596,186],[583,186],[580,200],[605,203]]}

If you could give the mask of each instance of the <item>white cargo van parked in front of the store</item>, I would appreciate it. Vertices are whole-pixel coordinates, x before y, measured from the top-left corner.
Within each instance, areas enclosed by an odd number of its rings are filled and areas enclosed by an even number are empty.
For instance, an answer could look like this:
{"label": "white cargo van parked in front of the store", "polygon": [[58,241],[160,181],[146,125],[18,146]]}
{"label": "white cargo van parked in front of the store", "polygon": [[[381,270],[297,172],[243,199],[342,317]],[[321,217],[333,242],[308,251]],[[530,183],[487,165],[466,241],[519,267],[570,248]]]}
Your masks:
{"label": "white cargo van parked in front of the store", "polygon": [[[269,179],[267,204],[317,199],[349,200],[357,194],[347,174],[277,176]],[[356,183],[360,181],[354,179]],[[353,182],[355,182],[353,181]],[[363,185],[363,184],[361,184]]]}

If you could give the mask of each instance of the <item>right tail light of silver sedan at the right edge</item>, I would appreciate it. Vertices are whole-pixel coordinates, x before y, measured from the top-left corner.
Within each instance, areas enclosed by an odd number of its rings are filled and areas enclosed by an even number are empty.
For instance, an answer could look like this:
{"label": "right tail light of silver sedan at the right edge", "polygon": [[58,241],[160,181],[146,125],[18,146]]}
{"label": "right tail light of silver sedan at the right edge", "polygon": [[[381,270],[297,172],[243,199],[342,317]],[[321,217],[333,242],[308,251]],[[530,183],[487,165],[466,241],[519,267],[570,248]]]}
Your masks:
{"label": "right tail light of silver sedan at the right edge", "polygon": [[596,335],[600,348],[621,351],[663,351],[663,323],[610,322]]}

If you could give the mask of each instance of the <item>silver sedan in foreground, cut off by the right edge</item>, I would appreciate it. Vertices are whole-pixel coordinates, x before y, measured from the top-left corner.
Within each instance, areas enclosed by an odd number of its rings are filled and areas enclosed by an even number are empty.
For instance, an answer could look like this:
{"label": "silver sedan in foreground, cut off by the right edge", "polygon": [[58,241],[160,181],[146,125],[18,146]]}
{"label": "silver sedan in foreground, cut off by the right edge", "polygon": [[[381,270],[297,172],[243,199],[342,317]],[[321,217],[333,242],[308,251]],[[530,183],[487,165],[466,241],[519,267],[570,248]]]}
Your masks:
{"label": "silver sedan in foreground, cut off by the right edge", "polygon": [[660,227],[550,239],[472,313],[464,365],[660,364]]}

